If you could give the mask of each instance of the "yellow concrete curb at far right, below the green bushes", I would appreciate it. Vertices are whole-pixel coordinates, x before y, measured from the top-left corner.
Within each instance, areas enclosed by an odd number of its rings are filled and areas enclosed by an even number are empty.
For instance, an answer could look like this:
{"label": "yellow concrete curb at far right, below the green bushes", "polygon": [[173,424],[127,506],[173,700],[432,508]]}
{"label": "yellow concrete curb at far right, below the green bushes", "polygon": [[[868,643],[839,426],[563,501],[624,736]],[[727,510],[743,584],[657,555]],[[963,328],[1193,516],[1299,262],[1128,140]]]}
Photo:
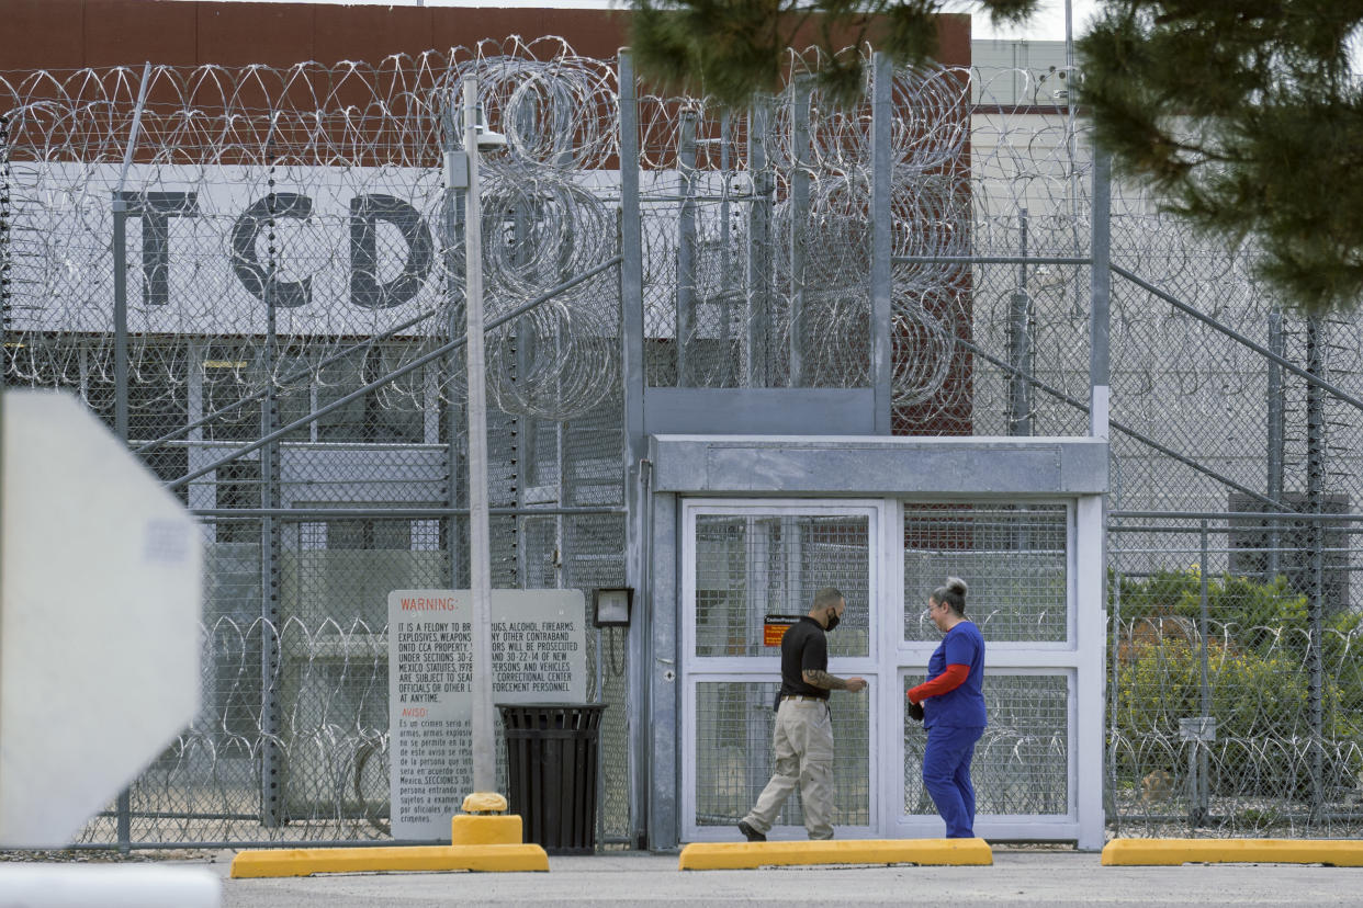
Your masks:
{"label": "yellow concrete curb at far right, below the green bushes", "polygon": [[1114,839],[1103,866],[1273,863],[1363,867],[1363,841],[1341,839]]}

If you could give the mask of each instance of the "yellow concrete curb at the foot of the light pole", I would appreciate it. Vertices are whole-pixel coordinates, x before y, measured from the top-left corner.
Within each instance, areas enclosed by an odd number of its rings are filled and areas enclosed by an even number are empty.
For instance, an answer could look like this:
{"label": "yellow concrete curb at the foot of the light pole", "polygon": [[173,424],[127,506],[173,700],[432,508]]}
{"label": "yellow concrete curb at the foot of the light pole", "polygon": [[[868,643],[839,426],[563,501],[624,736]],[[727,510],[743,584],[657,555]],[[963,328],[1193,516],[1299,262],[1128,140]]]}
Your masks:
{"label": "yellow concrete curb at the foot of the light pole", "polygon": [[311,877],[384,870],[548,870],[540,845],[391,845],[379,848],[269,848],[232,859],[232,877]]}

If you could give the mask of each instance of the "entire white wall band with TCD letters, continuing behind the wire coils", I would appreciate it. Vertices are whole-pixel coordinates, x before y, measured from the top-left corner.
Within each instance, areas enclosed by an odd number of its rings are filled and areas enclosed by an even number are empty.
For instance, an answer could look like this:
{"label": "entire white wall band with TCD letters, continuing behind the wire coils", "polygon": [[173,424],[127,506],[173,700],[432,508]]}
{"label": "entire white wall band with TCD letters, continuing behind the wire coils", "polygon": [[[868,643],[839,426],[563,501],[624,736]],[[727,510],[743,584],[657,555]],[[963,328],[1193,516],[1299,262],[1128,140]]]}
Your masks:
{"label": "entire white wall band with TCD letters, continuing behind the wire coils", "polygon": [[[14,161],[11,170],[14,331],[113,329],[116,204],[132,335],[264,334],[269,299],[281,336],[368,336],[447,308],[451,282],[463,286],[462,250],[444,255],[453,227],[438,166],[135,163],[121,189],[113,163]],[[619,172],[551,170],[529,182],[484,170],[489,306],[518,305],[570,276],[562,268],[583,272],[615,255],[602,227]],[[643,176],[645,189],[677,178]],[[564,195],[559,180],[577,189]],[[402,335],[444,329],[435,319]]]}

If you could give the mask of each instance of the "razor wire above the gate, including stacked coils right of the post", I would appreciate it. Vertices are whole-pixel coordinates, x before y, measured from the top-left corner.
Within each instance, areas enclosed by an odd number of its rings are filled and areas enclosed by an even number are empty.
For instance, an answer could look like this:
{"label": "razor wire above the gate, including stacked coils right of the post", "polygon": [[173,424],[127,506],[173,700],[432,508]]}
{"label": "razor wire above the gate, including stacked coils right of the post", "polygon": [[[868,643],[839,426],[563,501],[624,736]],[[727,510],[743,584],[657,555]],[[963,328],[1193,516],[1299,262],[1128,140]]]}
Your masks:
{"label": "razor wire above the gate, including stacked coils right of the post", "polygon": [[[675,339],[650,350],[650,384],[871,384],[871,106],[811,90],[814,63],[792,53],[786,88],[750,112],[642,99],[645,321],[650,336]],[[970,84],[960,68],[894,74],[895,256],[969,250]],[[969,410],[951,343],[968,331],[968,270],[895,271],[895,407],[919,429],[950,432],[949,414]]]}

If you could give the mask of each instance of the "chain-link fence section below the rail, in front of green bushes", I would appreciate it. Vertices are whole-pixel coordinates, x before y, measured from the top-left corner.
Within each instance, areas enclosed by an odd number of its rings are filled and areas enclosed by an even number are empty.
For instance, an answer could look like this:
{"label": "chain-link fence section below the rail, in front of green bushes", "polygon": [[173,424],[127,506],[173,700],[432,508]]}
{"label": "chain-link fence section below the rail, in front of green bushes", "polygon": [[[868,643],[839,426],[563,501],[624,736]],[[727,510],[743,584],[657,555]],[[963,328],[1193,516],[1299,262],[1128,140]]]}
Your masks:
{"label": "chain-link fence section below the rail, in front of green bushes", "polygon": [[1118,833],[1359,834],[1363,613],[1347,592],[1358,532],[1353,516],[1115,520]]}

